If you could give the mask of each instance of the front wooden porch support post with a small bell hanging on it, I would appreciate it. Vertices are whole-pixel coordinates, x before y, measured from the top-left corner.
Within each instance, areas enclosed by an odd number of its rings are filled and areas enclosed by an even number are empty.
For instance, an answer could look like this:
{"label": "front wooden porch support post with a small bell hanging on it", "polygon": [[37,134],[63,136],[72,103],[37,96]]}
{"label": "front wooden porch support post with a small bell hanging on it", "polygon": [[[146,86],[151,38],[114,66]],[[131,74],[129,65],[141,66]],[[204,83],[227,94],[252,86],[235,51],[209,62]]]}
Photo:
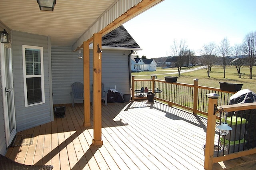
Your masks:
{"label": "front wooden porch support post with a small bell hanging on it", "polygon": [[102,77],[102,53],[97,53],[98,45],[101,47],[101,34],[93,35],[93,140],[92,143],[102,145],[101,140],[101,77]]}

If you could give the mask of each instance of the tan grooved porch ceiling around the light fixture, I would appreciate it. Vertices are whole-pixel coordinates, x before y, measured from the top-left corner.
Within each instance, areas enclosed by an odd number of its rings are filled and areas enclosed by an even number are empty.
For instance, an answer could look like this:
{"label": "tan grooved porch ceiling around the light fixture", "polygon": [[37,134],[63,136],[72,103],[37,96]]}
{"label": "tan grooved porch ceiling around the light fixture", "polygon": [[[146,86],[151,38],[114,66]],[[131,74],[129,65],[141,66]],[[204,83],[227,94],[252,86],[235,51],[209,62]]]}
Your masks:
{"label": "tan grooved porch ceiling around the light fixture", "polygon": [[[107,21],[113,21],[120,14],[142,0],[56,0],[54,11],[40,11],[36,0],[1,0],[0,21],[10,30],[50,36],[52,45],[74,45],[102,15],[108,11]],[[148,6],[137,10],[138,14],[161,0],[143,0]],[[152,5],[151,5],[152,4]],[[141,8],[141,7],[140,7]],[[114,14],[114,15],[113,15]],[[122,14],[122,13],[121,13]],[[136,15],[138,15],[136,14]],[[134,17],[134,16],[133,16]],[[129,18],[130,19],[130,18]],[[100,30],[109,23],[97,23]],[[126,22],[128,19],[123,20]],[[105,21],[106,22],[106,21]],[[118,23],[116,27],[123,23]],[[114,28],[113,28],[114,29]],[[99,30],[99,29],[98,29]],[[94,32],[98,32],[94,30]],[[111,30],[110,30],[111,31]],[[79,41],[79,43],[83,42]],[[78,44],[78,46],[81,44]]]}

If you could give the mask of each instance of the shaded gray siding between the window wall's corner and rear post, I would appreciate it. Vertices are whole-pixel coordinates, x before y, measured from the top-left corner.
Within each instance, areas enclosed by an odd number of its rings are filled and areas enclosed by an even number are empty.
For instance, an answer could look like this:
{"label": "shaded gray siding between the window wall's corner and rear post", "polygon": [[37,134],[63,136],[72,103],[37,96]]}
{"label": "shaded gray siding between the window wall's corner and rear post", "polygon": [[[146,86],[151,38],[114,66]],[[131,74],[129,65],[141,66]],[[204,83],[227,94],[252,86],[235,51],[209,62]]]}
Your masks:
{"label": "shaded gray siding between the window wall's corner and rear post", "polygon": [[53,104],[71,103],[72,83],[84,82],[83,60],[72,46],[52,46]]}

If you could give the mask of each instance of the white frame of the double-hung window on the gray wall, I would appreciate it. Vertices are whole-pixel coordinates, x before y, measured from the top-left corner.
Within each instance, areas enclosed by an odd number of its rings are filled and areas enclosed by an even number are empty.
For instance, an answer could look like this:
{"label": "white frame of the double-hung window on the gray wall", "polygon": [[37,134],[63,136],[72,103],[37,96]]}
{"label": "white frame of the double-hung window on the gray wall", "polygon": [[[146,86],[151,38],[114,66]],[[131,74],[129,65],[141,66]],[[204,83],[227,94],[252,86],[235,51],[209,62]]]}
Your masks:
{"label": "white frame of the double-hung window on the gray wall", "polygon": [[[40,61],[41,61],[41,74],[38,75],[26,75],[26,57],[25,57],[25,49],[39,49],[40,50]],[[45,103],[44,96],[44,55],[43,55],[43,47],[31,46],[31,45],[22,45],[22,59],[23,59],[23,82],[24,82],[24,97],[25,97],[25,107],[40,105]],[[33,77],[41,77],[41,93],[42,93],[42,102],[33,103],[28,105],[28,96],[27,96],[27,78]]]}

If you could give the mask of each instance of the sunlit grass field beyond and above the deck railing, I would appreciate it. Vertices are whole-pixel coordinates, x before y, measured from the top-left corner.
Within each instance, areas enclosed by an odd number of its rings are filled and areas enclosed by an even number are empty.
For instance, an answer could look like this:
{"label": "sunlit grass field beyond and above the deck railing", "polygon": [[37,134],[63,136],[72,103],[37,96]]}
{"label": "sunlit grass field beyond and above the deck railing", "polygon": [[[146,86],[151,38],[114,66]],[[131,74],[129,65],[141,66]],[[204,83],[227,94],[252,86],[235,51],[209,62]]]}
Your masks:
{"label": "sunlit grass field beyond and above the deck railing", "polygon": [[[182,70],[193,69],[196,67],[198,66],[190,68],[184,67]],[[177,68],[162,69],[158,67],[156,71],[143,71],[140,73],[132,73],[132,75],[135,75],[135,79],[151,79],[152,75],[156,75],[157,79],[164,80],[164,76],[178,76],[178,73],[176,72],[178,72]],[[250,89],[256,93],[256,66],[254,66],[252,69],[252,79],[250,79],[250,69],[248,67],[244,66],[241,73],[241,78],[239,78],[236,67],[228,66],[226,67],[226,78],[223,78],[223,68],[221,66],[215,66],[212,67],[210,77],[207,77],[206,69],[200,69],[187,73],[181,73],[177,82],[194,84],[193,79],[199,79],[198,85],[215,88],[220,88],[219,82],[239,83],[244,84],[242,89]]]}

